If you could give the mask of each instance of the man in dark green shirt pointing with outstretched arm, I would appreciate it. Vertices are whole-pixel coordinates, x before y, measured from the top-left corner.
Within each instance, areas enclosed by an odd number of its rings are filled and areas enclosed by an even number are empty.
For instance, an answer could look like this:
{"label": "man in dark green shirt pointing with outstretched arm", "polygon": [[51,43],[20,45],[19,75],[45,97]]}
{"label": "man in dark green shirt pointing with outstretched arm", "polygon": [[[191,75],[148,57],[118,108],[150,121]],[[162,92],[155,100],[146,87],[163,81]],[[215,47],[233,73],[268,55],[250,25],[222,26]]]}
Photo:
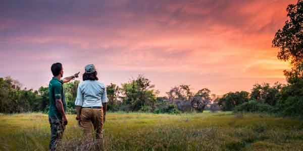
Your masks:
{"label": "man in dark green shirt pointing with outstretched arm", "polygon": [[67,117],[65,115],[66,102],[63,90],[63,84],[70,82],[74,78],[78,78],[80,72],[66,77],[63,80],[63,67],[61,63],[54,63],[51,67],[54,75],[48,85],[49,95],[49,111],[48,120],[51,124],[51,141],[49,142],[49,150],[56,150],[58,142],[60,142],[65,125],[67,125]]}

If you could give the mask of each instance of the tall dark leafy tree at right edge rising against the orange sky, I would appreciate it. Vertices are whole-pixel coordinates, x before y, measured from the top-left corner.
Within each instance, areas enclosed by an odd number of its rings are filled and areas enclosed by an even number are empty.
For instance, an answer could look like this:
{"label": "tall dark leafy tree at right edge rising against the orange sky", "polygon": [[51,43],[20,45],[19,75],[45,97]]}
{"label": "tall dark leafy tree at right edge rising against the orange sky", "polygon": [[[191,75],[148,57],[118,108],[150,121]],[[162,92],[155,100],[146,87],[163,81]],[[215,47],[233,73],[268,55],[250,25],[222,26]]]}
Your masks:
{"label": "tall dark leafy tree at right edge rising against the orange sky", "polygon": [[288,5],[284,27],[279,29],[272,46],[279,48],[278,59],[290,60],[291,70],[284,70],[287,86],[281,89],[278,101],[280,112],[286,116],[303,114],[303,1]]}

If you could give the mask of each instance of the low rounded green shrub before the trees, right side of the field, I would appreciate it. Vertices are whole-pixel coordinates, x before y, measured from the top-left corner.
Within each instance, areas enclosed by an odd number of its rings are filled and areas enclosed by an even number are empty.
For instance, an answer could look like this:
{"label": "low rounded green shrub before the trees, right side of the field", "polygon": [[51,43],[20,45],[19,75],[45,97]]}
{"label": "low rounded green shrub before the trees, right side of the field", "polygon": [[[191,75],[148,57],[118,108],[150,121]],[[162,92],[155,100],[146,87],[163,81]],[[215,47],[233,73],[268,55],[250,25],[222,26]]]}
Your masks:
{"label": "low rounded green shrub before the trees, right side of the field", "polygon": [[275,108],[268,104],[257,102],[256,100],[250,100],[236,106],[234,112],[275,112]]}

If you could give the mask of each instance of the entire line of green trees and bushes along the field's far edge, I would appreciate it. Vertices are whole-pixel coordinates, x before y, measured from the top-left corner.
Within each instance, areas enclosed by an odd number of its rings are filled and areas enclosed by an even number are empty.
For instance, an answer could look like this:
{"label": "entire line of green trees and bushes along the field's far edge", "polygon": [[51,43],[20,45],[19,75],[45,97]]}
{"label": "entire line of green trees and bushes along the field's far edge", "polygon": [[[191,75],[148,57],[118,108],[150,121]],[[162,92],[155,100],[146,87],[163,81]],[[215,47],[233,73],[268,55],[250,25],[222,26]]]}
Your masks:
{"label": "entire line of green trees and bushes along the field's far edge", "polygon": [[[288,78],[289,79],[289,78]],[[290,79],[288,81],[291,81]],[[75,112],[74,101],[79,81],[64,84],[69,113]],[[181,113],[211,111],[270,112],[281,115],[302,115],[303,79],[295,83],[256,84],[251,92],[230,92],[221,97],[211,94],[207,88],[193,93],[189,85],[173,87],[167,96],[157,97],[159,91],[151,82],[139,75],[136,79],[107,86],[108,109],[112,112]],[[21,84],[10,77],[0,78],[0,112],[47,112],[48,88],[21,89]]]}

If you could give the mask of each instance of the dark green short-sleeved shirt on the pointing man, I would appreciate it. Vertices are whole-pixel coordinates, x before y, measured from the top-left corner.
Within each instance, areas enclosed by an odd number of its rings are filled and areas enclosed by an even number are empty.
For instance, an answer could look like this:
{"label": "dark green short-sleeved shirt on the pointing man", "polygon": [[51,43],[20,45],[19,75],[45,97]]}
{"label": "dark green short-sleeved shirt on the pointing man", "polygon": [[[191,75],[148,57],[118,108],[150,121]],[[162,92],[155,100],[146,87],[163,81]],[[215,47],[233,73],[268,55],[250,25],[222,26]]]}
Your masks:
{"label": "dark green short-sleeved shirt on the pointing man", "polygon": [[63,90],[63,81],[56,77],[49,82],[48,85],[48,97],[49,97],[49,111],[48,116],[57,116],[62,119],[61,113],[58,112],[56,107],[56,99],[61,99],[63,103],[64,111],[66,111],[66,102]]}

